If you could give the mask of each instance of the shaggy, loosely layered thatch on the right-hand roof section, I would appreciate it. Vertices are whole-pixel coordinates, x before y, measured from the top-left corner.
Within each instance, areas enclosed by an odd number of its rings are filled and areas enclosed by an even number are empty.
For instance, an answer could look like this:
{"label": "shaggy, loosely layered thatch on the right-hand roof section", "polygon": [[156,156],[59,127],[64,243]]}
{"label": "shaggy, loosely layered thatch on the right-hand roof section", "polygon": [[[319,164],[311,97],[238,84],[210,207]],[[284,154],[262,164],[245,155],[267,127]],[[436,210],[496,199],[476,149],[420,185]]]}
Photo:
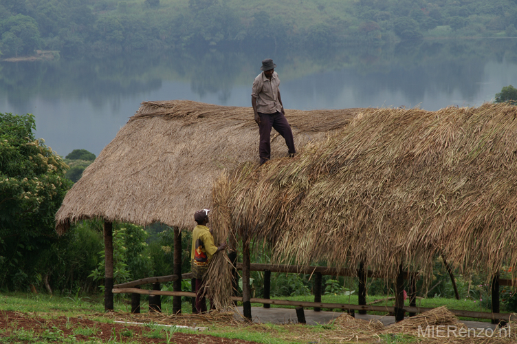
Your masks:
{"label": "shaggy, loosely layered thatch on the right-hand roof section", "polygon": [[[230,176],[231,226],[275,261],[496,272],[517,265],[517,107],[367,111],[292,160]],[[215,191],[217,192],[217,191]],[[292,261],[293,262],[293,261]]]}

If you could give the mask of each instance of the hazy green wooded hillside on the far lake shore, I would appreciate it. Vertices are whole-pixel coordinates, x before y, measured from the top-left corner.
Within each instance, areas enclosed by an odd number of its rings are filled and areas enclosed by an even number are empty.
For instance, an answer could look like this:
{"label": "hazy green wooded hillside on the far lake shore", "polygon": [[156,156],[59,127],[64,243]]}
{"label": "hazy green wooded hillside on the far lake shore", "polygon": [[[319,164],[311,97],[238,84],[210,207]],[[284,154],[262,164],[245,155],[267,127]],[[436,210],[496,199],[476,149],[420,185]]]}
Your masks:
{"label": "hazy green wooded hillside on the far lake shore", "polygon": [[1,0],[4,58],[517,36],[517,1]]}

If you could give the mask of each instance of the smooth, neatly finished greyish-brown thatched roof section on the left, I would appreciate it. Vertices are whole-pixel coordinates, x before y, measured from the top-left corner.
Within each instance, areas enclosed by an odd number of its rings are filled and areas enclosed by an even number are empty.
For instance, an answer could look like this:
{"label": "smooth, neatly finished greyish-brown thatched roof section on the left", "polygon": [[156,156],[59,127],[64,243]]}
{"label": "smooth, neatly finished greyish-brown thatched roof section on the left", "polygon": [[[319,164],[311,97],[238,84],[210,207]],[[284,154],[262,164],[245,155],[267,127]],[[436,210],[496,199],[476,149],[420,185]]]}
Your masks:
{"label": "smooth, neatly finished greyish-brown thatched roof section on the left", "polygon": [[[358,109],[287,110],[295,144],[325,140]],[[272,131],[272,158],[287,147]],[[135,116],[83,173],[56,213],[64,233],[80,219],[190,228],[192,214],[210,206],[212,181],[241,162],[259,163],[259,129],[251,107],[192,101],[142,103]]]}

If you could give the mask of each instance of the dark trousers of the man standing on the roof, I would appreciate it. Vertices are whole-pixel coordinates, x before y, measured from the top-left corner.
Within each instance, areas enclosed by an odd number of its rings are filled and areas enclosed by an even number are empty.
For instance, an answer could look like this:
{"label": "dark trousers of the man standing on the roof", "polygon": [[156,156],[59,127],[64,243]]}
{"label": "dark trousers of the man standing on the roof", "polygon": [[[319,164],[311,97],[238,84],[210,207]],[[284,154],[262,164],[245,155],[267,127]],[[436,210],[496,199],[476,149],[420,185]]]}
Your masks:
{"label": "dark trousers of the man standing on the roof", "polygon": [[296,153],[296,149],[294,149],[293,132],[285,116],[278,111],[274,114],[263,114],[259,112],[259,116],[261,118],[261,124],[259,125],[261,135],[259,155],[261,157],[261,164],[271,158],[270,137],[272,127],[284,138],[285,144],[287,144],[287,148],[289,149],[289,154]]}

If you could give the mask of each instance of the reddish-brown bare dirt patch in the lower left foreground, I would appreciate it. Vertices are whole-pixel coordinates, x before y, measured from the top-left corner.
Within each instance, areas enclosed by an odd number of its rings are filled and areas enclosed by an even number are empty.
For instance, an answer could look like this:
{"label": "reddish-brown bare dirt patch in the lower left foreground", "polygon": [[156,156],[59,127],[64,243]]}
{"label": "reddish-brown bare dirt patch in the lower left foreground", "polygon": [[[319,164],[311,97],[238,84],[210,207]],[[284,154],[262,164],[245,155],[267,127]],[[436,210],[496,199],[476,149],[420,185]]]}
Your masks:
{"label": "reddish-brown bare dirt patch in the lower left foreground", "polygon": [[[113,319],[117,319],[115,314]],[[135,321],[136,319],[126,319],[126,321]],[[137,322],[137,321],[135,321]],[[136,341],[138,343],[167,343],[165,332],[163,330],[154,330],[152,327],[143,325],[127,325],[124,323],[104,323],[100,321],[92,321],[82,317],[66,317],[66,316],[41,316],[36,313],[20,313],[12,311],[0,311],[0,337],[10,337],[19,334],[20,330],[27,333],[34,331],[32,338],[41,338],[47,341],[59,341],[63,338],[75,338],[76,341],[98,340],[102,342],[116,341]],[[16,333],[15,333],[16,332]],[[87,333],[89,334],[80,334]],[[156,335],[158,334],[159,335]],[[172,334],[172,333],[171,333]],[[209,334],[187,334],[175,332],[170,343],[188,344],[188,343],[206,343],[206,344],[243,344],[254,343],[249,341],[241,341],[239,339],[228,339],[210,336]],[[153,336],[162,336],[164,338],[152,338]],[[1,340],[0,340],[1,341]],[[23,341],[18,338],[17,341]],[[28,341],[31,341],[28,339]]]}

